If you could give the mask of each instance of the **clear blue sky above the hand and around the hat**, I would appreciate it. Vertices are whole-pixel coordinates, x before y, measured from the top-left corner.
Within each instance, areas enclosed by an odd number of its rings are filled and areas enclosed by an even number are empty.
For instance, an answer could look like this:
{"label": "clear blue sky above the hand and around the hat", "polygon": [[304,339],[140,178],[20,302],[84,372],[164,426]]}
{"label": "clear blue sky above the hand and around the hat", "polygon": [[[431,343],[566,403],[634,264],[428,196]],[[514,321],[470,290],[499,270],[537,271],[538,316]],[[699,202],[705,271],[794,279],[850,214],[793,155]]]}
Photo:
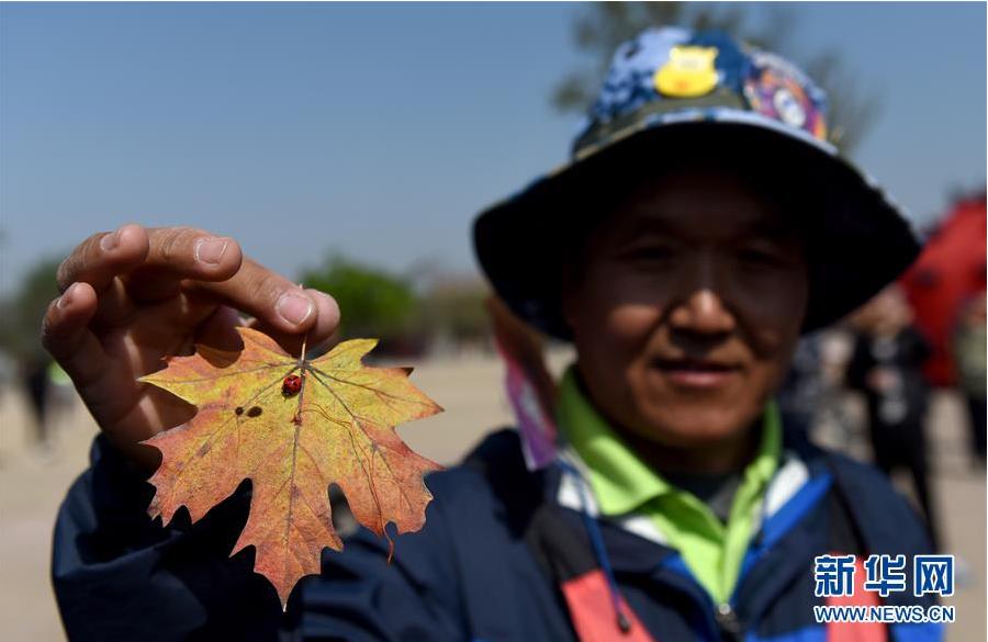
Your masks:
{"label": "clear blue sky above the hand and around the hat", "polygon": [[[756,25],[771,11],[751,4]],[[986,176],[984,3],[797,3],[880,98],[854,161],[924,223]],[[476,270],[473,216],[563,162],[570,3],[0,4],[0,296],[128,222],[229,235],[289,275],[328,252]]]}

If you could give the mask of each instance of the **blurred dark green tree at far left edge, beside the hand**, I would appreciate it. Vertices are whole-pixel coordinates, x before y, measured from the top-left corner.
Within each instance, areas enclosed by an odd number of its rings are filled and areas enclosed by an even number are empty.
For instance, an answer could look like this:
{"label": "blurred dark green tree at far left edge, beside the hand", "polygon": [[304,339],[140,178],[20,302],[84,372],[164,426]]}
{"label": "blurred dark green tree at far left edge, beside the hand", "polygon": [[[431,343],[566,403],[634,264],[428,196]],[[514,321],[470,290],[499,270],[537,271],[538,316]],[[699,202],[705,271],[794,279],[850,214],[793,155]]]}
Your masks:
{"label": "blurred dark green tree at far left edge, beside the hand", "polygon": [[0,302],[0,347],[19,361],[42,358],[41,326],[48,303],[58,296],[55,272],[59,259],[37,262],[18,286]]}

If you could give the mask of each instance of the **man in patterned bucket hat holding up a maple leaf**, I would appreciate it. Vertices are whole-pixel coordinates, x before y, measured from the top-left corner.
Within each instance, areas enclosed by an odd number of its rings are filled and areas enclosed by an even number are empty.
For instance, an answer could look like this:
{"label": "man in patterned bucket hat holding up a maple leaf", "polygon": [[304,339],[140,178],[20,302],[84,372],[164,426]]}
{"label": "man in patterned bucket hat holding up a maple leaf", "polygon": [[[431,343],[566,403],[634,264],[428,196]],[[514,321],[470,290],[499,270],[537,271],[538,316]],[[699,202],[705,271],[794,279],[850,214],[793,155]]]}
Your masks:
{"label": "man in patterned bucket hat holding up a maple leaf", "polygon": [[[842,552],[860,566],[930,543],[880,473],[784,435],[773,396],[799,336],[868,300],[918,244],[826,142],[824,102],[791,64],[722,33],[649,30],[622,44],[572,162],[474,225],[505,314],[572,341],[576,361],[530,430],[495,432],[427,478],[426,525],[397,538],[391,564],[361,530],[323,556],[285,615],[250,555],[228,556],[246,486],[195,523],[147,518],[157,453],[138,442],[189,408],[134,378],[193,342],[232,349],[237,311],[289,351],[305,334],[327,340],[340,311],[229,237],[137,225],[92,235],[63,263],[44,329],[102,429],[55,533],[69,635],[853,634],[812,619],[831,601],[815,589],[815,557]],[[507,349],[544,380],[528,346]],[[862,568],[855,577],[851,604],[873,604]],[[869,630],[875,640],[942,632]]]}

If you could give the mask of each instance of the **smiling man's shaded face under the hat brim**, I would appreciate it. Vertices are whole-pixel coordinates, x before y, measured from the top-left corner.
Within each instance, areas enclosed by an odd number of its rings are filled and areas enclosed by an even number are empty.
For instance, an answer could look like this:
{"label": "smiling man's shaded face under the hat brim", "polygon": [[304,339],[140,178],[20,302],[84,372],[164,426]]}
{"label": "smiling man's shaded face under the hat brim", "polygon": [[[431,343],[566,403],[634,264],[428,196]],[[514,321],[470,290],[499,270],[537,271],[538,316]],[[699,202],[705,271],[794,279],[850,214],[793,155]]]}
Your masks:
{"label": "smiling man's shaded face under the hat brim", "polygon": [[789,221],[729,174],[691,170],[641,188],[594,233],[564,312],[580,374],[611,421],[695,448],[760,415],[807,306]]}

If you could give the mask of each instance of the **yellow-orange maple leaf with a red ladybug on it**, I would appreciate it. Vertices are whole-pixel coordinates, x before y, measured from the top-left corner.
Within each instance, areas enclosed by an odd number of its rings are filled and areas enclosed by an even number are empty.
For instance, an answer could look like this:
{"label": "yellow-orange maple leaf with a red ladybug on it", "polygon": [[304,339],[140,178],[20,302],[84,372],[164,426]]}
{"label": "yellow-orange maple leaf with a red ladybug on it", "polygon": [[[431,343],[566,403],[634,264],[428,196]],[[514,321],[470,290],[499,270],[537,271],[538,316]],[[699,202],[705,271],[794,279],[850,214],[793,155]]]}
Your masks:
{"label": "yellow-orange maple leaf with a red ladybug on it", "polygon": [[423,475],[440,466],[413,452],[394,426],[442,408],[412,385],[412,369],[361,364],[377,339],[344,341],[308,361],[257,330],[237,331],[240,352],[197,346],[139,379],[198,409],[144,441],[162,458],[148,480],[157,489],[148,514],[167,525],[186,506],[194,522],[249,478],[250,515],[231,555],[252,545],[255,571],[284,608],[295,583],[319,572],[323,548],[343,550],[329,484],[379,537],[388,537],[388,522],[400,533],[422,528],[433,497]]}

